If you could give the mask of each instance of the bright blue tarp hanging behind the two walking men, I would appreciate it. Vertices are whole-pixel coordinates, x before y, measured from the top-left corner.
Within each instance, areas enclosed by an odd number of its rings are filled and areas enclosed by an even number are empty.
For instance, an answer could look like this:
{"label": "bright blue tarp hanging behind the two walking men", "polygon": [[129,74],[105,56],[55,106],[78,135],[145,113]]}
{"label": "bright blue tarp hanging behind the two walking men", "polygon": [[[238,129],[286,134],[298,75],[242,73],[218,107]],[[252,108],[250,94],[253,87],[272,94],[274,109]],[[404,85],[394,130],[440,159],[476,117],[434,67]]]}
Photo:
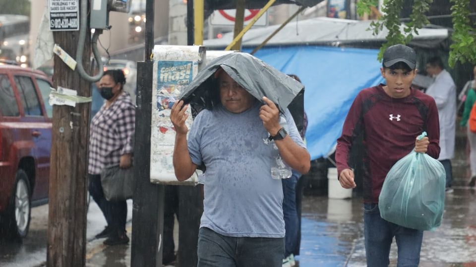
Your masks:
{"label": "bright blue tarp hanging behind the two walking men", "polygon": [[266,47],[256,52],[278,70],[296,74],[305,86],[305,137],[311,159],[332,152],[357,93],[384,81],[377,54],[377,49],[327,46]]}

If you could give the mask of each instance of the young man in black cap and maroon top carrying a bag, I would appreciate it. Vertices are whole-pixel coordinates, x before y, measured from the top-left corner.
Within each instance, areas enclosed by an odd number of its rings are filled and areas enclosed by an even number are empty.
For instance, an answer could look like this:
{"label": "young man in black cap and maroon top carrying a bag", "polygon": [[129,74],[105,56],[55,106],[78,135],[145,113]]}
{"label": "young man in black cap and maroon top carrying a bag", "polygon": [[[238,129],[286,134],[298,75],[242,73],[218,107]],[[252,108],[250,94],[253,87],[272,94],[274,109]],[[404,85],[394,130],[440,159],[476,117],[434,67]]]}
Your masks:
{"label": "young man in black cap and maroon top carrying a bag", "polygon": [[[367,266],[389,265],[392,239],[398,246],[398,266],[418,266],[423,232],[387,222],[380,217],[378,197],[388,171],[413,149],[437,159],[438,110],[432,97],[411,88],[416,75],[416,53],[405,45],[393,45],[383,55],[380,69],[386,85],[363,89],[349,110],[342,136],[337,140],[339,181],[354,188],[349,166],[353,141],[363,134],[364,237]],[[427,132],[428,137],[416,140]]]}

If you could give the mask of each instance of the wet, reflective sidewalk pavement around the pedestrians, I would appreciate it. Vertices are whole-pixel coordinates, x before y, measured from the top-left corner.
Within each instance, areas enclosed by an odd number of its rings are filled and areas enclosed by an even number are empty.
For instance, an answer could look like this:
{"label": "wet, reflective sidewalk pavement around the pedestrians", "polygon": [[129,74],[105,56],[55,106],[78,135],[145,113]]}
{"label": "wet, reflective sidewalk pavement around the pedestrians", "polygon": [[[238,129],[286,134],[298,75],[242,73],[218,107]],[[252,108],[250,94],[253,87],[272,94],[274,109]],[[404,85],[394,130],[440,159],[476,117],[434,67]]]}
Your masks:
{"label": "wet, reflective sidewalk pavement around the pedestrians", "polygon": [[[339,200],[304,196],[302,204],[301,255],[296,257],[299,267],[366,266],[361,198]],[[102,241],[88,243],[88,267],[130,265],[129,245],[107,247]],[[390,266],[396,264],[394,242]],[[474,189],[455,187],[453,193],[446,195],[442,225],[435,231],[424,232],[420,266],[476,267]]]}

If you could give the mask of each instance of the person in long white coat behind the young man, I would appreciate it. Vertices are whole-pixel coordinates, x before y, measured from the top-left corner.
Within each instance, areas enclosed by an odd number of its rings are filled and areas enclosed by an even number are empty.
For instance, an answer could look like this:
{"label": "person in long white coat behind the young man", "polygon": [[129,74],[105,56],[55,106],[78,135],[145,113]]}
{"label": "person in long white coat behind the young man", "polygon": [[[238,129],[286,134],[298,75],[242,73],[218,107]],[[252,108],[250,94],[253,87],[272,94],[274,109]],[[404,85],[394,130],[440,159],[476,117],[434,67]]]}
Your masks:
{"label": "person in long white coat behind the young man", "polygon": [[435,78],[433,84],[426,89],[426,94],[435,99],[438,108],[441,148],[438,160],[445,167],[446,191],[452,191],[451,159],[455,155],[456,85],[439,57],[433,57],[428,61],[426,72]]}

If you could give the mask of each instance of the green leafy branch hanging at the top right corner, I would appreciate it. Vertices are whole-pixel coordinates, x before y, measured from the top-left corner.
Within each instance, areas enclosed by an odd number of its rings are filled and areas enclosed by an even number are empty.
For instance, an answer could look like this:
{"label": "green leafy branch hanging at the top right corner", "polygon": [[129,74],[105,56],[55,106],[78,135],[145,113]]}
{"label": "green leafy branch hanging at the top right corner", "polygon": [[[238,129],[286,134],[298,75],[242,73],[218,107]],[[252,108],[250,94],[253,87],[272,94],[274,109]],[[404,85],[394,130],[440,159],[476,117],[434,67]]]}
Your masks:
{"label": "green leafy branch hanging at the top right corner", "polygon": [[476,63],[475,28],[471,25],[470,0],[451,0],[451,15],[454,32],[451,36],[448,63],[453,67],[457,61]]}

